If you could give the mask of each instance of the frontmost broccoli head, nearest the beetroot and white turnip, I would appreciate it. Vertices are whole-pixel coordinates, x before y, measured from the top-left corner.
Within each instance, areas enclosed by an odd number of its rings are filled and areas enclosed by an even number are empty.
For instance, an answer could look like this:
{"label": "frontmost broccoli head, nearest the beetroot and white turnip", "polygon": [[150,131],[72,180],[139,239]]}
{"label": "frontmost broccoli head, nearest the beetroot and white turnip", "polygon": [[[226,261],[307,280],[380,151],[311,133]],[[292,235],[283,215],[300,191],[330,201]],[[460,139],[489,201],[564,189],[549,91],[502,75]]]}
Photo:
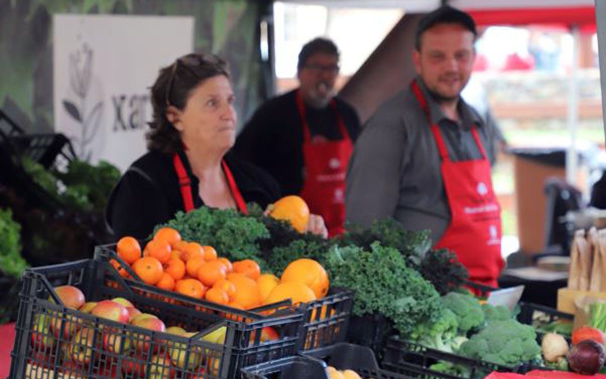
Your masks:
{"label": "frontmost broccoli head, nearest the beetroot and white turnip", "polygon": [[534,328],[516,320],[493,321],[461,344],[459,354],[503,366],[541,359]]}

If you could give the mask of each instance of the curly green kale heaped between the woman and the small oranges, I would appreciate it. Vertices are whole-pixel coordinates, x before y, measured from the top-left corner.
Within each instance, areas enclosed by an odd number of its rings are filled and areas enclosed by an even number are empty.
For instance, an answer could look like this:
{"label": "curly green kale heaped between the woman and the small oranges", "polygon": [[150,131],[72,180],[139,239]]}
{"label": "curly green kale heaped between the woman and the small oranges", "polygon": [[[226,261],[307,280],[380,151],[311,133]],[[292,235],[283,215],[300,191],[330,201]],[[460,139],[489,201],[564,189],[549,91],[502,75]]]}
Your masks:
{"label": "curly green kale heaped between the woman and the small oranges", "polygon": [[[156,226],[175,228],[185,241],[215,247],[217,252],[233,261],[252,259],[267,269],[261,258],[259,241],[268,238],[264,224],[233,209],[199,207],[191,212],[177,212],[173,220]],[[151,236],[150,236],[151,237]]]}

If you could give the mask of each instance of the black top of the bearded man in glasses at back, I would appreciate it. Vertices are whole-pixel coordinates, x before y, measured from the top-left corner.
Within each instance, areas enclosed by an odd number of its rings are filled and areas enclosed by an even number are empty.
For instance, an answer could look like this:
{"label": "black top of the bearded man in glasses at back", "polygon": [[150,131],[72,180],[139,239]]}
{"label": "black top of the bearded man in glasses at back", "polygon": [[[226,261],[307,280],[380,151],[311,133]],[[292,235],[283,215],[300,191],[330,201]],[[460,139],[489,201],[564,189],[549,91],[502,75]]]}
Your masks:
{"label": "black top of the bearded man in glasses at back", "polygon": [[[304,182],[303,125],[295,101],[296,90],[266,101],[256,110],[238,136],[235,150],[278,181],[282,195],[298,195]],[[351,141],[356,141],[360,121],[356,111],[339,98],[337,110]],[[311,136],[342,138],[335,111],[327,106],[305,106]]]}

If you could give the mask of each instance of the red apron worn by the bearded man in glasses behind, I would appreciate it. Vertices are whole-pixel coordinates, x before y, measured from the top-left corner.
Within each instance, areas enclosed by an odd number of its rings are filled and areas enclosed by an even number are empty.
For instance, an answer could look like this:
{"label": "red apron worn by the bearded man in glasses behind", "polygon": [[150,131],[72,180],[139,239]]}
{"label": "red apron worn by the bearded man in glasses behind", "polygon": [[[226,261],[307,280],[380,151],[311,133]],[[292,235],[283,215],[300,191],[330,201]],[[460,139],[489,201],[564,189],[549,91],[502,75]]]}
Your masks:
{"label": "red apron worn by the bearded man in glasses behind", "polygon": [[330,101],[330,107],[335,111],[339,131],[343,136],[338,141],[312,141],[305,117],[305,105],[299,92],[296,93],[296,102],[304,136],[305,182],[300,195],[311,213],[324,218],[328,235],[339,235],[345,231],[345,174],[353,144],[339,115],[335,99]]}

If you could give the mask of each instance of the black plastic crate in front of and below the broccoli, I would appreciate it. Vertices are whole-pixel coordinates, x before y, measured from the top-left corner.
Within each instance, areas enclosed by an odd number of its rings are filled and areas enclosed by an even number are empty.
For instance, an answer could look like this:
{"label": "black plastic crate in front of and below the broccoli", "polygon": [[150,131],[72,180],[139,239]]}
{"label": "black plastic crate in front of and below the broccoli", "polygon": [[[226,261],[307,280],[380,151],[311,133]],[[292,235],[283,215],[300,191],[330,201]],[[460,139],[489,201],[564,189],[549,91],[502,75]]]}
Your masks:
{"label": "black plastic crate in front of and below the broccoli", "polygon": [[[433,371],[430,366],[438,363],[452,363],[464,367],[465,375],[451,375]],[[493,371],[516,372],[518,366],[508,367],[486,361],[474,360],[461,355],[450,354],[419,344],[401,340],[398,337],[390,337],[385,346],[383,358],[385,369],[410,375],[411,377],[422,377],[427,379],[466,379],[484,378]]]}

